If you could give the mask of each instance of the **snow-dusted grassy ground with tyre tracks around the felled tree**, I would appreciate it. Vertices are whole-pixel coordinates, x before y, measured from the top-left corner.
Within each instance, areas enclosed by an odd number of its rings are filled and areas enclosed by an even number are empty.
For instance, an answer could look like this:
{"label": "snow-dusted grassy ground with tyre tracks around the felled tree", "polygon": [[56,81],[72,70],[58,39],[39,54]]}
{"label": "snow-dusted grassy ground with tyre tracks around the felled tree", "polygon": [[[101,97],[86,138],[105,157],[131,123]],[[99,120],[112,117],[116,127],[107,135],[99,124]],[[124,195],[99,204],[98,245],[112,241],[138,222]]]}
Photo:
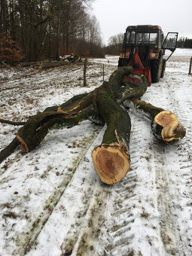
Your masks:
{"label": "snow-dusted grassy ground with tyre tracks around the felled tree", "polygon": [[[20,149],[0,165],[0,255],[191,255],[191,49],[177,49],[166,75],[148,87],[145,101],[173,111],[184,139],[164,145],[148,120],[130,111],[130,172],[118,184],[99,181],[91,151],[105,126],[90,120],[51,130],[29,154]],[[117,56],[46,71],[1,69],[0,118],[26,120],[73,95],[89,92],[117,69]],[[0,123],[0,150],[18,127]]]}

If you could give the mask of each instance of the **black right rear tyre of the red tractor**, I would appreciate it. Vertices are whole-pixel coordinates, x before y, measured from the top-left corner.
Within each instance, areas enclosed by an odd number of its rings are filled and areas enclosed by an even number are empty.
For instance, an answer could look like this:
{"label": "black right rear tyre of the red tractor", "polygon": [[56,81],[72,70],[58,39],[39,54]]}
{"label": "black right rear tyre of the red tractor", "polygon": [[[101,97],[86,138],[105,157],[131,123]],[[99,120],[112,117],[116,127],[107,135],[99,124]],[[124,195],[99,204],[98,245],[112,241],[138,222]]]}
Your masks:
{"label": "black right rear tyre of the red tractor", "polygon": [[159,54],[158,59],[151,59],[150,66],[151,66],[151,82],[152,83],[157,83],[158,81],[160,81],[162,65],[163,65],[162,53]]}

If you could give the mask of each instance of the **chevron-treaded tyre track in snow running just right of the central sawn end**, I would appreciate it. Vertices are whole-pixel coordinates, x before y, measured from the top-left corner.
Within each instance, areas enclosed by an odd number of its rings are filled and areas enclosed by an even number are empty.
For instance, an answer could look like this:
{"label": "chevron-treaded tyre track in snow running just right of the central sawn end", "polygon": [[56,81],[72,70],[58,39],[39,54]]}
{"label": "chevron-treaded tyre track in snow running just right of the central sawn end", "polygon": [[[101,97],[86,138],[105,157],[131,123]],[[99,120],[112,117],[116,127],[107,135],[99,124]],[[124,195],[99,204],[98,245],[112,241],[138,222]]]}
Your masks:
{"label": "chevron-treaded tyre track in snow running just right of the central sawn end", "polygon": [[[151,203],[152,199],[149,198],[149,195],[146,194],[145,197],[142,194],[142,187],[145,187],[145,189],[151,187],[147,178],[150,151],[148,150],[148,136],[145,139],[146,133],[144,132],[144,130],[148,130],[150,136],[150,126],[148,126],[148,122],[140,120],[135,114],[131,114],[131,120],[131,170],[113,191],[111,228],[106,239],[105,255],[142,254],[143,245],[150,254],[152,245],[159,239],[154,229],[155,221],[153,221],[153,218],[155,217],[154,206]],[[145,141],[142,145],[144,148],[139,148],[139,142],[141,141]],[[149,224],[149,218],[152,218],[151,224]],[[148,233],[146,228],[150,230]],[[153,230],[153,235],[151,235],[151,230]],[[139,246],[141,239],[143,239],[143,245]],[[158,248],[157,251],[159,251]]]}

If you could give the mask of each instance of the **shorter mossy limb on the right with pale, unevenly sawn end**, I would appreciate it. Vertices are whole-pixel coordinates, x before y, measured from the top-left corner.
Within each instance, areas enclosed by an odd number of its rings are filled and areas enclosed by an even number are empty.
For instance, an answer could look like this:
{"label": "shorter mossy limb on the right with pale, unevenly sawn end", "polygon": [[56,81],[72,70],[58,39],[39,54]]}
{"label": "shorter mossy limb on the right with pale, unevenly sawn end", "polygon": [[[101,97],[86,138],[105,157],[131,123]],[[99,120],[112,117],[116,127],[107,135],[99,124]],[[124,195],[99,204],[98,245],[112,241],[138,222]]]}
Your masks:
{"label": "shorter mossy limb on the right with pale, unevenly sawn end", "polygon": [[163,142],[176,142],[184,138],[186,130],[178,122],[174,113],[163,108],[157,108],[148,102],[139,99],[125,101],[123,105],[126,108],[133,108],[151,120],[151,130],[157,139]]}

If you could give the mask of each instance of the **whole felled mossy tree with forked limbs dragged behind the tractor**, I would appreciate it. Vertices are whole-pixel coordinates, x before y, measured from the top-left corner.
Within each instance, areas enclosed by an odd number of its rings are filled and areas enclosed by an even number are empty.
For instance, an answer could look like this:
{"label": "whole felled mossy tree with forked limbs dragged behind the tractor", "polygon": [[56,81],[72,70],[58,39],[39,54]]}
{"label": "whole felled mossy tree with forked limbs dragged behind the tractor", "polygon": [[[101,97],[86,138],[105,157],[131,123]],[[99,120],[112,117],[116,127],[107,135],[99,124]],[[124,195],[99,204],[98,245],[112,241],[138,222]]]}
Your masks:
{"label": "whole felled mossy tree with forked limbs dragged behind the tractor", "polygon": [[[131,79],[126,81],[126,78]],[[132,78],[136,81],[131,81]],[[10,145],[0,152],[0,163],[18,145],[26,153],[34,150],[56,123],[72,127],[81,120],[97,118],[106,123],[107,129],[102,144],[92,152],[94,167],[103,182],[117,183],[130,169],[131,120],[125,108],[133,108],[148,117],[154,136],[163,142],[175,142],[185,135],[184,126],[178,123],[175,114],[140,99],[147,87],[145,77],[133,75],[131,67],[117,69],[108,82],[104,81],[92,92],[74,96],[62,105],[48,107],[30,117]]]}

